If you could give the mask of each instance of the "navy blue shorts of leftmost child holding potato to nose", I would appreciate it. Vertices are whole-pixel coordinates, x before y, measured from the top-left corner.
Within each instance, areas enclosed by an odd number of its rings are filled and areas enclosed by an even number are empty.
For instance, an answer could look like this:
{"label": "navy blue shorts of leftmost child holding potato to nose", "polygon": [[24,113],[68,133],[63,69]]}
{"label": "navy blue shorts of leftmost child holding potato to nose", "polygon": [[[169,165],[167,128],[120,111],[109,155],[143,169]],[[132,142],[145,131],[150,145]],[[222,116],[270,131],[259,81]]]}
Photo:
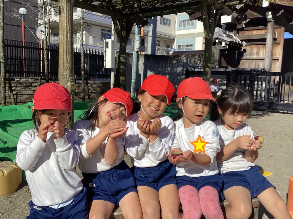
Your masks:
{"label": "navy blue shorts of leftmost child holding potato to nose", "polygon": [[30,215],[27,216],[26,219],[87,219],[88,202],[86,201],[86,193],[86,188],[83,188],[69,205],[57,209],[48,206],[36,206],[33,201],[30,201],[30,203],[28,203]]}

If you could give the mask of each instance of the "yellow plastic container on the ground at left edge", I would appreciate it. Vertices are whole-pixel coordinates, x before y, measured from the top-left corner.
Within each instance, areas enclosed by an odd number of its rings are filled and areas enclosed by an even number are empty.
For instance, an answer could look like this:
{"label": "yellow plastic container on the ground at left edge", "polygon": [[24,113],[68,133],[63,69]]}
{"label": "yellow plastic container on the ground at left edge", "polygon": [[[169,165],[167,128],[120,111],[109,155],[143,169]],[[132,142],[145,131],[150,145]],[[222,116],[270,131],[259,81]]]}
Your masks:
{"label": "yellow plastic container on the ground at left edge", "polygon": [[12,194],[21,184],[21,168],[11,161],[0,162],[0,197]]}

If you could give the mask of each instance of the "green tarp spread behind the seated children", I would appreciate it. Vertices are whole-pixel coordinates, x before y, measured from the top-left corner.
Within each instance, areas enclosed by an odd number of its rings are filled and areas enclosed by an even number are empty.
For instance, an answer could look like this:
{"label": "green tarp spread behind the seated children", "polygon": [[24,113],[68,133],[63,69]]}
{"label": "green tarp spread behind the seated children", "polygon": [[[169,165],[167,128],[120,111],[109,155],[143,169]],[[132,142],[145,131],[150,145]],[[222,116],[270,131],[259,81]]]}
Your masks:
{"label": "green tarp spread behind the seated children", "polygon": [[[132,98],[134,101],[137,98]],[[79,115],[91,106],[93,101],[74,102],[74,122]],[[16,147],[21,133],[33,129],[32,102],[25,105],[0,106],[0,161],[14,161]],[[178,107],[175,103],[167,105],[164,114],[174,118],[178,115]],[[73,119],[73,118],[71,118]]]}

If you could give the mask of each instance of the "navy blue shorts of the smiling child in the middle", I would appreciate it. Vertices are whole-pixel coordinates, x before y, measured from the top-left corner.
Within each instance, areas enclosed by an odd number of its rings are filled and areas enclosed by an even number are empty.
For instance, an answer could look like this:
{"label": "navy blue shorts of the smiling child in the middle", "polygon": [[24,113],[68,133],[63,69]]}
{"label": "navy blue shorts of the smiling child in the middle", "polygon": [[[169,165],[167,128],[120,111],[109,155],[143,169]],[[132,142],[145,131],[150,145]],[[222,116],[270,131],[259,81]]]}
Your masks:
{"label": "navy blue shorts of the smiling child in the middle", "polygon": [[165,185],[177,184],[176,167],[168,159],[153,167],[134,167],[137,186],[148,186],[157,192]]}

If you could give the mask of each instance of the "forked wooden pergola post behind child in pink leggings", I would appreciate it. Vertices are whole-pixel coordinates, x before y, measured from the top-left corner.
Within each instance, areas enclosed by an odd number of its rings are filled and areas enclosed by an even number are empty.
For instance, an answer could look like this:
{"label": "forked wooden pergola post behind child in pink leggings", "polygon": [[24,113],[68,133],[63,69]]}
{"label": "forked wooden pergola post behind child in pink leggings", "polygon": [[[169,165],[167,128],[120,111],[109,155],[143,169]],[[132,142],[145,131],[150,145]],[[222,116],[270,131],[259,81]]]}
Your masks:
{"label": "forked wooden pergola post behind child in pink leggings", "polygon": [[213,36],[219,19],[219,10],[215,11],[214,5],[207,5],[207,0],[201,2],[202,23],[205,33],[205,52],[202,62],[202,79],[208,84],[211,81],[212,46]]}

